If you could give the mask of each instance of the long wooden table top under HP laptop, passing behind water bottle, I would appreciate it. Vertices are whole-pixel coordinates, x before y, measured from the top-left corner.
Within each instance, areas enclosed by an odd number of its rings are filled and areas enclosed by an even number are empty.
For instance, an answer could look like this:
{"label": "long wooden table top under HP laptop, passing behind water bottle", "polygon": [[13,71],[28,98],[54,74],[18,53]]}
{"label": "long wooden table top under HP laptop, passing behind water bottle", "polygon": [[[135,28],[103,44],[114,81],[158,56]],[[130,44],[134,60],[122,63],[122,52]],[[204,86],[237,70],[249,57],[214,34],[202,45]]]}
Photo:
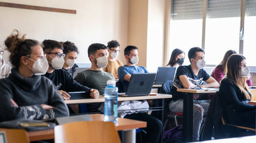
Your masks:
{"label": "long wooden table top under HP laptop, passing behind water bottle", "polygon": [[[133,96],[133,97],[117,97],[117,101],[130,101],[130,100],[148,100],[148,99],[164,99],[171,98],[172,95],[165,95],[159,93],[150,93],[154,95],[148,96]],[[80,103],[97,103],[104,102],[104,96],[100,96],[98,99],[74,99],[74,100],[65,100],[66,104],[80,104]]]}

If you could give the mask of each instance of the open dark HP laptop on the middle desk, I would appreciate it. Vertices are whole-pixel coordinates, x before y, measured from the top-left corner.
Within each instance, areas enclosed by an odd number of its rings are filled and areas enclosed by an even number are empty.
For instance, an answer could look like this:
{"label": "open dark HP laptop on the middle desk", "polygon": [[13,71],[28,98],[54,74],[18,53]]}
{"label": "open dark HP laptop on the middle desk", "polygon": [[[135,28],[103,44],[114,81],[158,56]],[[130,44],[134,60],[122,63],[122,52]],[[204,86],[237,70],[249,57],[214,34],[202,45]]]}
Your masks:
{"label": "open dark HP laptop on the middle desk", "polygon": [[149,95],[156,73],[132,74],[126,93],[118,93],[121,97]]}

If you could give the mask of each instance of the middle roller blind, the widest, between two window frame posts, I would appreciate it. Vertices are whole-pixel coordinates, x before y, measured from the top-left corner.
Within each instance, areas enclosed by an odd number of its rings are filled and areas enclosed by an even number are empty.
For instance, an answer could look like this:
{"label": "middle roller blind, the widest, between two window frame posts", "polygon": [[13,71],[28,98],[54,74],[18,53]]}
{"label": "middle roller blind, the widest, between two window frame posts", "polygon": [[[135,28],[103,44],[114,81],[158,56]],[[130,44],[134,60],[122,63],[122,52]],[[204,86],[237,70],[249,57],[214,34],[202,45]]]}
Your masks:
{"label": "middle roller blind, the widest, between two window frame posts", "polygon": [[241,0],[208,0],[208,18],[240,17]]}

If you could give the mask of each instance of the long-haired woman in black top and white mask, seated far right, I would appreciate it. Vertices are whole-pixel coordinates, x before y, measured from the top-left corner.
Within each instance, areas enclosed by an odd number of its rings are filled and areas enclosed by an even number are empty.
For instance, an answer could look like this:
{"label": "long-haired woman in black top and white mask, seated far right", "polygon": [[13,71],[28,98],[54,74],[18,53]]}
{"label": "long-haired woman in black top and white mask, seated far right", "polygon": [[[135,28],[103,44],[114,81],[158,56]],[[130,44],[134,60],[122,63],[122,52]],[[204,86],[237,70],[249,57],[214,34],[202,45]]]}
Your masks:
{"label": "long-haired woman in black top and white mask, seated far right", "polygon": [[226,78],[219,88],[224,118],[228,124],[255,128],[256,106],[249,105],[252,93],[246,84],[250,70],[243,55],[234,54],[226,65]]}

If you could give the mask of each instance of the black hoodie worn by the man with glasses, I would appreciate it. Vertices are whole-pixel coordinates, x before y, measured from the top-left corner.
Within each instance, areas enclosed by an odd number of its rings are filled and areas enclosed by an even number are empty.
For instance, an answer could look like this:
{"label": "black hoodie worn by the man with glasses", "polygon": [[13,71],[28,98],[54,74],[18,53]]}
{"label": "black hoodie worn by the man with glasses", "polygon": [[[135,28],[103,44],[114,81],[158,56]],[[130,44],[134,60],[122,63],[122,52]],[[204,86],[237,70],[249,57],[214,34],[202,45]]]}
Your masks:
{"label": "black hoodie worn by the man with glasses", "polygon": [[63,90],[66,92],[90,92],[90,88],[77,83],[67,71],[64,71],[62,69],[54,69],[51,74],[46,73],[43,76],[46,76],[47,78],[52,80],[58,90]]}

